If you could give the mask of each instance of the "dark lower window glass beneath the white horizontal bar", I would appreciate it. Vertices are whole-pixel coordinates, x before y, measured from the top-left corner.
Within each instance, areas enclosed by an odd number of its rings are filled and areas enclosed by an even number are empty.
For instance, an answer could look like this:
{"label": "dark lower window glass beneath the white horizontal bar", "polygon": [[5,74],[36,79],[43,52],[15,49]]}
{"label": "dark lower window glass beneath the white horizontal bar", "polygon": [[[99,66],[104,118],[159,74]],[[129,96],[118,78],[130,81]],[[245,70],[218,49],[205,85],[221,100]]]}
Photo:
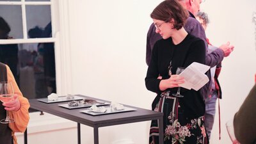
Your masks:
{"label": "dark lower window glass beneath the white horizontal bar", "polygon": [[0,61],[10,67],[24,97],[35,99],[56,93],[53,43],[2,44]]}

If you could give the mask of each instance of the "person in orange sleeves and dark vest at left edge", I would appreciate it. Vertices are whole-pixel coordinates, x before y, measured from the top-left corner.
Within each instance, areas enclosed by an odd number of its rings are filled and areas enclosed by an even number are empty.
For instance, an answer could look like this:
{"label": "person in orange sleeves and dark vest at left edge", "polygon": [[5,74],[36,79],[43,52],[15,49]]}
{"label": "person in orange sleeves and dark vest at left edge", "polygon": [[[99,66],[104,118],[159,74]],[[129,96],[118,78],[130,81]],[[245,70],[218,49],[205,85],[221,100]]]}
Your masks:
{"label": "person in orange sleeves and dark vest at left edge", "polygon": [[9,112],[10,118],[15,122],[8,124],[0,124],[0,141],[4,144],[17,144],[15,132],[24,132],[29,122],[29,102],[23,97],[19,87],[13,77],[12,71],[8,65],[0,63],[0,81],[8,81],[12,83],[14,91],[14,100],[9,102],[1,102],[0,118],[5,118],[6,111]]}

